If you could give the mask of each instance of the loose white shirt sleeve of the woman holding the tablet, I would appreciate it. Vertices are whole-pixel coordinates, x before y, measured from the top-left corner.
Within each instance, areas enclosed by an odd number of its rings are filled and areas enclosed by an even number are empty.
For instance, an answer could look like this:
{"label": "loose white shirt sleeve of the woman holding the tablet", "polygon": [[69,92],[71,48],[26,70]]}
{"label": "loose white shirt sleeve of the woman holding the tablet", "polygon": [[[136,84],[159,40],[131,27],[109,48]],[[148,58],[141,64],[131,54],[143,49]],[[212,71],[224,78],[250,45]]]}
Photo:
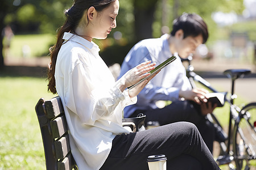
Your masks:
{"label": "loose white shirt sleeve of the woman holding the tablet", "polygon": [[96,75],[82,63],[77,64],[70,75],[70,84],[65,89],[65,104],[84,124],[93,125],[102,117],[107,119],[120,101],[127,98],[117,86],[94,86]]}

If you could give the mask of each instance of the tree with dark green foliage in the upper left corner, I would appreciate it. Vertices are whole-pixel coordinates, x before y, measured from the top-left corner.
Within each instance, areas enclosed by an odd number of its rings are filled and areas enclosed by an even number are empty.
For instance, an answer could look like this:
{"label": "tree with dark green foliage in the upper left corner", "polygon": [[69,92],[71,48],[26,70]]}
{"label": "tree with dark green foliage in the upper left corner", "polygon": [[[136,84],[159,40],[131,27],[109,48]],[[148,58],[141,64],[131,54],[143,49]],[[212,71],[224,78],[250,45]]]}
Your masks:
{"label": "tree with dark green foliage in the upper left corner", "polygon": [[[6,24],[18,25],[19,33],[55,33],[64,22],[64,8],[72,5],[71,0],[1,0],[0,32]],[[8,17],[7,17],[8,16]],[[9,18],[6,23],[5,19]],[[0,69],[4,66],[3,34],[0,39]]]}

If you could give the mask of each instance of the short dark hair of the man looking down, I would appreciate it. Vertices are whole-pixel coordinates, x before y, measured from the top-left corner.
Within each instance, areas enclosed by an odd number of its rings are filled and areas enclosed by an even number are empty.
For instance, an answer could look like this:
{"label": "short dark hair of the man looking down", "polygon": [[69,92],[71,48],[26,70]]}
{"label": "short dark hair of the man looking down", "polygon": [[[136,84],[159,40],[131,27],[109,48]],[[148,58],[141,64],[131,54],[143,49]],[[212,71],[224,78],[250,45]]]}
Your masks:
{"label": "short dark hair of the man looking down", "polygon": [[184,32],[184,37],[192,36],[196,37],[199,35],[203,36],[203,44],[208,39],[208,28],[207,24],[204,22],[203,18],[197,14],[183,13],[179,18],[176,18],[172,23],[171,35],[175,36],[175,33],[182,29]]}

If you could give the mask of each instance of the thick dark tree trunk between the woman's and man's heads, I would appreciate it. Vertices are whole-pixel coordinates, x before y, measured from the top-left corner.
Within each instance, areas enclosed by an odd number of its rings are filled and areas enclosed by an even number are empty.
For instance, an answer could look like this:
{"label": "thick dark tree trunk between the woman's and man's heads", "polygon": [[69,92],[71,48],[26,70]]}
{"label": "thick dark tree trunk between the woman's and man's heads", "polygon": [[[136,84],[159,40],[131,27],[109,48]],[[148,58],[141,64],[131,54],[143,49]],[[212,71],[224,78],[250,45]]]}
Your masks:
{"label": "thick dark tree trunk between the woman's and man's heads", "polygon": [[136,41],[152,38],[152,24],[154,22],[154,12],[157,0],[135,0],[135,36]]}

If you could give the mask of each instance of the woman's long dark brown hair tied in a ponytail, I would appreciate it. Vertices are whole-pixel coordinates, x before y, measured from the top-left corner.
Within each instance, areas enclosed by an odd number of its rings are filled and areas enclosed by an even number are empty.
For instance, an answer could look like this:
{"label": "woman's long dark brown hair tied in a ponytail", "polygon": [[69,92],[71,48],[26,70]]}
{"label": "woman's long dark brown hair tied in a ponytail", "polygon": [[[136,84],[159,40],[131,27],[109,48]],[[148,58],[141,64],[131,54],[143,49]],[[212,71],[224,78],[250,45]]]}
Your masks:
{"label": "woman's long dark brown hair tied in a ponytail", "polygon": [[93,6],[96,11],[100,12],[104,8],[108,7],[110,3],[116,0],[75,0],[72,7],[68,10],[65,10],[64,14],[66,16],[65,23],[62,27],[60,27],[57,33],[57,42],[54,46],[49,49],[51,54],[51,62],[48,65],[48,91],[51,91],[53,94],[56,94],[56,82],[55,82],[55,66],[57,61],[57,54],[63,44],[63,35],[64,32],[72,32],[75,33],[75,29],[79,24],[82,16],[84,15],[85,10],[88,10],[91,6]]}

